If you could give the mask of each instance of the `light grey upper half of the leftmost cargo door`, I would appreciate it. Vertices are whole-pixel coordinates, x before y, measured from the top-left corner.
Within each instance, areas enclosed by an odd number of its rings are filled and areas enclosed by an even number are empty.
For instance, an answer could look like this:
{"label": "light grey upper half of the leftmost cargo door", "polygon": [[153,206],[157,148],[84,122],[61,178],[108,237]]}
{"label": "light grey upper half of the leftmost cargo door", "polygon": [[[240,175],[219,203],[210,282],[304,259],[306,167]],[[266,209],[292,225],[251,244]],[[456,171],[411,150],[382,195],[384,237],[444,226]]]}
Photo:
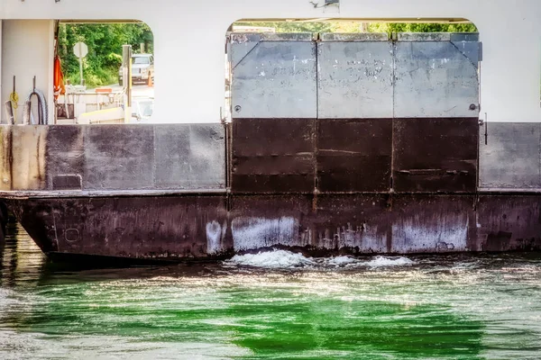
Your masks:
{"label": "light grey upper half of the leftmost cargo door", "polygon": [[260,41],[233,68],[232,104],[234,119],[316,118],[316,43]]}

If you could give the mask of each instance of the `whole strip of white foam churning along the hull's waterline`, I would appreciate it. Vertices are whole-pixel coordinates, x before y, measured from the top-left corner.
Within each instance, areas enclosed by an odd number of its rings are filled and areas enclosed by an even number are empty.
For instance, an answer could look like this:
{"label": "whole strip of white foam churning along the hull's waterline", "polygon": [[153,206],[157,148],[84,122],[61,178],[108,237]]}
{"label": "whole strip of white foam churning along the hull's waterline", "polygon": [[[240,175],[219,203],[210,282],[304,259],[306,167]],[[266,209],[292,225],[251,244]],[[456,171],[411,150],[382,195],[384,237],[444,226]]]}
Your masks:
{"label": "whole strip of white foam churning along the hull's waterline", "polygon": [[257,254],[235,255],[225,261],[226,265],[253,266],[271,269],[294,268],[294,267],[390,267],[390,266],[411,266],[415,264],[408,257],[373,257],[370,261],[348,256],[329,257],[314,259],[304,257],[302,254],[293,253],[287,250],[274,249],[271,251],[259,252]]}

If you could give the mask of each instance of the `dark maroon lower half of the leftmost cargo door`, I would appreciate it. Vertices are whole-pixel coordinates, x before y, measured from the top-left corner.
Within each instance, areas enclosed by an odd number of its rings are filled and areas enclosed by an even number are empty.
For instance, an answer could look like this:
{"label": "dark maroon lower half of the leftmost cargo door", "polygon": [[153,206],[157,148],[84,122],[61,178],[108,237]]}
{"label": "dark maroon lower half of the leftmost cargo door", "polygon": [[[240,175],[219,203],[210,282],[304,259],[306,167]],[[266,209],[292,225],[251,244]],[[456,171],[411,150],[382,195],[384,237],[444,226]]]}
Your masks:
{"label": "dark maroon lower half of the leftmost cargo door", "polygon": [[232,190],[313,193],[315,148],[315,119],[235,120]]}

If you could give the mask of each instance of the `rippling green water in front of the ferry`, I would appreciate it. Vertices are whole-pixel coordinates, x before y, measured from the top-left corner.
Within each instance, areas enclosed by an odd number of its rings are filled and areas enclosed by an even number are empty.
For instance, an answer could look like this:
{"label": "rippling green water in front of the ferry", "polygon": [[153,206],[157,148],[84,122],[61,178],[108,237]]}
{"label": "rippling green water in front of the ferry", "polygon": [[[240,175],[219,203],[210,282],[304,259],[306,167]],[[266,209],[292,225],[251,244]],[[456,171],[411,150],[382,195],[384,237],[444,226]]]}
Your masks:
{"label": "rippling green water in front of the ferry", "polygon": [[0,358],[541,358],[540,255],[75,271],[10,234]]}

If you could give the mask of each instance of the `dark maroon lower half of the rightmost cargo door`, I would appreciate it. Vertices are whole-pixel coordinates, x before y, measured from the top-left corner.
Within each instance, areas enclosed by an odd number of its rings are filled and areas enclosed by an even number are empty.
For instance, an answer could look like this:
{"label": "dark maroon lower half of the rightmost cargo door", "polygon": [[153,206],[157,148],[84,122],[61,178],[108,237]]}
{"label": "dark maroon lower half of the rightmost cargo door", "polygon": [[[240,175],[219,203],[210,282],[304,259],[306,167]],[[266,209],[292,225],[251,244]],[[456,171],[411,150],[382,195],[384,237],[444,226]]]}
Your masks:
{"label": "dark maroon lower half of the rightmost cargo door", "polygon": [[393,184],[396,192],[474,192],[477,118],[395,119]]}

